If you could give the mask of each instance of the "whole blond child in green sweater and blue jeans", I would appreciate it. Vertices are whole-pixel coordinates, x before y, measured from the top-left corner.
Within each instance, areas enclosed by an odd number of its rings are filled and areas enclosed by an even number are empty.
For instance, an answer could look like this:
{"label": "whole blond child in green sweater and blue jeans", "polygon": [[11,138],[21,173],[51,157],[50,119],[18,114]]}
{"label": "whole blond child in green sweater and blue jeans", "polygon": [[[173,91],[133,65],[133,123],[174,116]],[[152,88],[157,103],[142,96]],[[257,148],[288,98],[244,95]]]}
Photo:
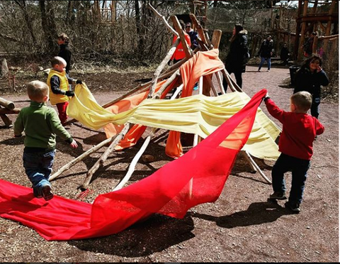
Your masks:
{"label": "whole blond child in green sweater and blue jeans", "polygon": [[14,123],[14,136],[22,136],[25,131],[23,167],[33,185],[33,194],[37,198],[53,198],[49,182],[55,159],[56,136],[60,136],[72,148],[77,142],[60,123],[55,109],[47,107],[49,87],[45,82],[33,81],[27,85],[30,106],[21,109]]}

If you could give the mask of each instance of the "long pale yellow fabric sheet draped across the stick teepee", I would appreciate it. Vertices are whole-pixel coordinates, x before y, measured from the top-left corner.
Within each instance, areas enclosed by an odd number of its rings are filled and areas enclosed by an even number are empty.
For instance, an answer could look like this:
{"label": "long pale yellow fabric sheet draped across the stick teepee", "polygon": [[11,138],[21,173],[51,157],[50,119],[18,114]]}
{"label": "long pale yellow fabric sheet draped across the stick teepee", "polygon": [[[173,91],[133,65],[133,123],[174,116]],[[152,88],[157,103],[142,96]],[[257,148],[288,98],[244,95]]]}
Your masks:
{"label": "long pale yellow fabric sheet draped across the stick teepee", "polygon": [[[99,129],[108,123],[130,122],[198,134],[202,138],[215,131],[250,99],[244,92],[232,92],[219,97],[194,95],[175,100],[145,99],[133,109],[112,114],[96,102],[84,82],[76,86],[75,94],[69,101],[67,114],[89,128]],[[279,133],[278,126],[259,109],[243,150],[256,158],[276,160],[279,152],[275,139]]]}

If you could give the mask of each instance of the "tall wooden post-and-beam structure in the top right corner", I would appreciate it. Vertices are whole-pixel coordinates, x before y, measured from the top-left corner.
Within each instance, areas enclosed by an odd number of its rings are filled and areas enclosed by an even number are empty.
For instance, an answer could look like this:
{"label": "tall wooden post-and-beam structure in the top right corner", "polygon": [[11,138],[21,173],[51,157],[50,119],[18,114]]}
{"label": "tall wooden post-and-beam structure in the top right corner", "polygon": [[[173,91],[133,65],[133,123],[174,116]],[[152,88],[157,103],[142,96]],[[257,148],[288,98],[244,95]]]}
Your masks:
{"label": "tall wooden post-and-beam structure in the top right corner", "polygon": [[[313,4],[312,8],[308,8]],[[320,5],[330,5],[328,13],[317,13]],[[339,31],[339,12],[336,8],[339,1],[299,1],[296,18],[296,38],[294,45],[295,59],[302,58],[302,45],[305,43],[305,36],[309,36],[313,31],[322,31],[322,35],[335,35]],[[316,40],[314,40],[316,41]]]}

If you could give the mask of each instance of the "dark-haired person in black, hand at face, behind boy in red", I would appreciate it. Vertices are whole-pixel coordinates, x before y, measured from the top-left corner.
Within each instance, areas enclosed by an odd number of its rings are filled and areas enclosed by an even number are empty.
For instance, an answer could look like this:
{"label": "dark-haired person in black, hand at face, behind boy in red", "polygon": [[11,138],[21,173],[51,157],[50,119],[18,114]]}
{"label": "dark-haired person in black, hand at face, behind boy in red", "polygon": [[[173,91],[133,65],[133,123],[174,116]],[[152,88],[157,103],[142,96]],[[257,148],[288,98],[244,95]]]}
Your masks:
{"label": "dark-haired person in black, hand at face, behind boy in red", "polygon": [[303,62],[297,72],[295,72],[295,92],[307,91],[312,94],[313,101],[310,114],[319,117],[319,104],[321,97],[321,86],[327,86],[329,79],[326,72],[322,70],[322,59],[317,55],[312,55]]}

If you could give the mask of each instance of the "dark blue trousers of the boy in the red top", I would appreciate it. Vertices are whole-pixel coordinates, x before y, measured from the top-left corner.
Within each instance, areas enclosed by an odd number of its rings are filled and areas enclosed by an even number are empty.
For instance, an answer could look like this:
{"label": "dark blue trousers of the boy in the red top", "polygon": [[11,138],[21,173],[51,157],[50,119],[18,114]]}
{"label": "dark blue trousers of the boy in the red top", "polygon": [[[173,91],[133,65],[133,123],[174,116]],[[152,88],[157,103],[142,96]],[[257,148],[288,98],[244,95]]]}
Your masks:
{"label": "dark blue trousers of the boy in the red top", "polygon": [[274,192],[285,192],[285,172],[292,172],[292,187],[290,189],[288,202],[291,204],[300,204],[305,189],[307,179],[307,170],[310,168],[310,160],[302,160],[281,153],[276,160],[271,177],[273,180]]}

